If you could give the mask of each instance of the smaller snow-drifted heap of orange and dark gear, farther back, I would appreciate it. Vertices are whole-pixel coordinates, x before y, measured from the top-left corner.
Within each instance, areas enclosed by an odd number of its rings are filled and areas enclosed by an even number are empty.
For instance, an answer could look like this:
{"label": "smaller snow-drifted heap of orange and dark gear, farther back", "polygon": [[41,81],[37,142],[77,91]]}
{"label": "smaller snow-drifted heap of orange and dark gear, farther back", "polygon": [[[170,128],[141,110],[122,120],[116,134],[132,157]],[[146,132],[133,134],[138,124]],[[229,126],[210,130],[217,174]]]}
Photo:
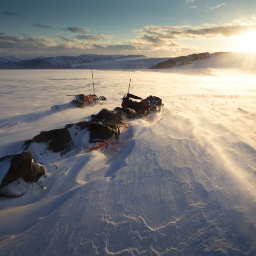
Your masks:
{"label": "smaller snow-drifted heap of orange and dark gear, farther back", "polygon": [[100,96],[97,97],[96,94],[77,94],[77,95],[67,95],[67,96],[75,96],[73,100],[66,104],[54,105],[51,106],[51,110],[62,110],[67,108],[85,108],[86,106],[94,106],[99,101],[106,101],[106,97]]}

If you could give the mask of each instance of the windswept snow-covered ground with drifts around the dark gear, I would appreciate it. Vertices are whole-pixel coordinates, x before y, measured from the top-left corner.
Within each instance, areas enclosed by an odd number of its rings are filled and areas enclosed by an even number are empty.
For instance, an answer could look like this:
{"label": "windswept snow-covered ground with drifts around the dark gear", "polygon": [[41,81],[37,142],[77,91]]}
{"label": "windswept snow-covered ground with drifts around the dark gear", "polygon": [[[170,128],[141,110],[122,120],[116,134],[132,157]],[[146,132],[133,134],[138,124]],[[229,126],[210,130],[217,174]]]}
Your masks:
{"label": "windswept snow-covered ground with drifts around the dark gear", "polygon": [[0,71],[0,157],[120,106],[130,79],[130,93],[164,103],[118,144],[44,159],[47,189],[0,199],[0,255],[256,255],[255,74],[93,75],[104,104],[51,112],[66,94],[93,93],[90,70]]}

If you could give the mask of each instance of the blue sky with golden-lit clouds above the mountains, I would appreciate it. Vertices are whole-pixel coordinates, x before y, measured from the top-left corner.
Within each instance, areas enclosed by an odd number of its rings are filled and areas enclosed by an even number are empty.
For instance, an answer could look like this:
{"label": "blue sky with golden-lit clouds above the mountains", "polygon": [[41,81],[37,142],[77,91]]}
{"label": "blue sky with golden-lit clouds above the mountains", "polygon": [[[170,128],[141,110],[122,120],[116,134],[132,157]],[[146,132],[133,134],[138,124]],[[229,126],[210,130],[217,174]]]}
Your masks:
{"label": "blue sky with golden-lit clouds above the mountains", "polygon": [[0,56],[256,51],[255,0],[0,3]]}

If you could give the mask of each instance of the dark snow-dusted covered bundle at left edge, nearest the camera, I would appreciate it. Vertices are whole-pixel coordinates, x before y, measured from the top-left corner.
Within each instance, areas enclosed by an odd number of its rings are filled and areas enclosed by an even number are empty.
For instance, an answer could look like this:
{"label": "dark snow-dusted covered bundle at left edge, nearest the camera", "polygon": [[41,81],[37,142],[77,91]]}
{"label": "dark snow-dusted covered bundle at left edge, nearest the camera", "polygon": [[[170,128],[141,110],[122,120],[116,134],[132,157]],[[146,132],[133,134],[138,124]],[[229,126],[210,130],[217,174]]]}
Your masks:
{"label": "dark snow-dusted covered bundle at left edge, nearest the camera", "polygon": [[27,185],[44,174],[44,167],[35,161],[32,152],[3,156],[0,158],[0,196],[22,196]]}

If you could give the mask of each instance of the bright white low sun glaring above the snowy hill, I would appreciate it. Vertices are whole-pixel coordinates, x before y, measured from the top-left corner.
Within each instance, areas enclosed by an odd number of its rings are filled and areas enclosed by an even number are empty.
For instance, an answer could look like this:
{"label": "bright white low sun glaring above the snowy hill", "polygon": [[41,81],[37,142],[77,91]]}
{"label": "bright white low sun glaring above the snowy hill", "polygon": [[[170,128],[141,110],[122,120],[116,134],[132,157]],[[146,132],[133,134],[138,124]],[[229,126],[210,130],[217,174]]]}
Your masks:
{"label": "bright white low sun glaring above the snowy hill", "polygon": [[238,36],[237,48],[241,52],[256,52],[256,30]]}

